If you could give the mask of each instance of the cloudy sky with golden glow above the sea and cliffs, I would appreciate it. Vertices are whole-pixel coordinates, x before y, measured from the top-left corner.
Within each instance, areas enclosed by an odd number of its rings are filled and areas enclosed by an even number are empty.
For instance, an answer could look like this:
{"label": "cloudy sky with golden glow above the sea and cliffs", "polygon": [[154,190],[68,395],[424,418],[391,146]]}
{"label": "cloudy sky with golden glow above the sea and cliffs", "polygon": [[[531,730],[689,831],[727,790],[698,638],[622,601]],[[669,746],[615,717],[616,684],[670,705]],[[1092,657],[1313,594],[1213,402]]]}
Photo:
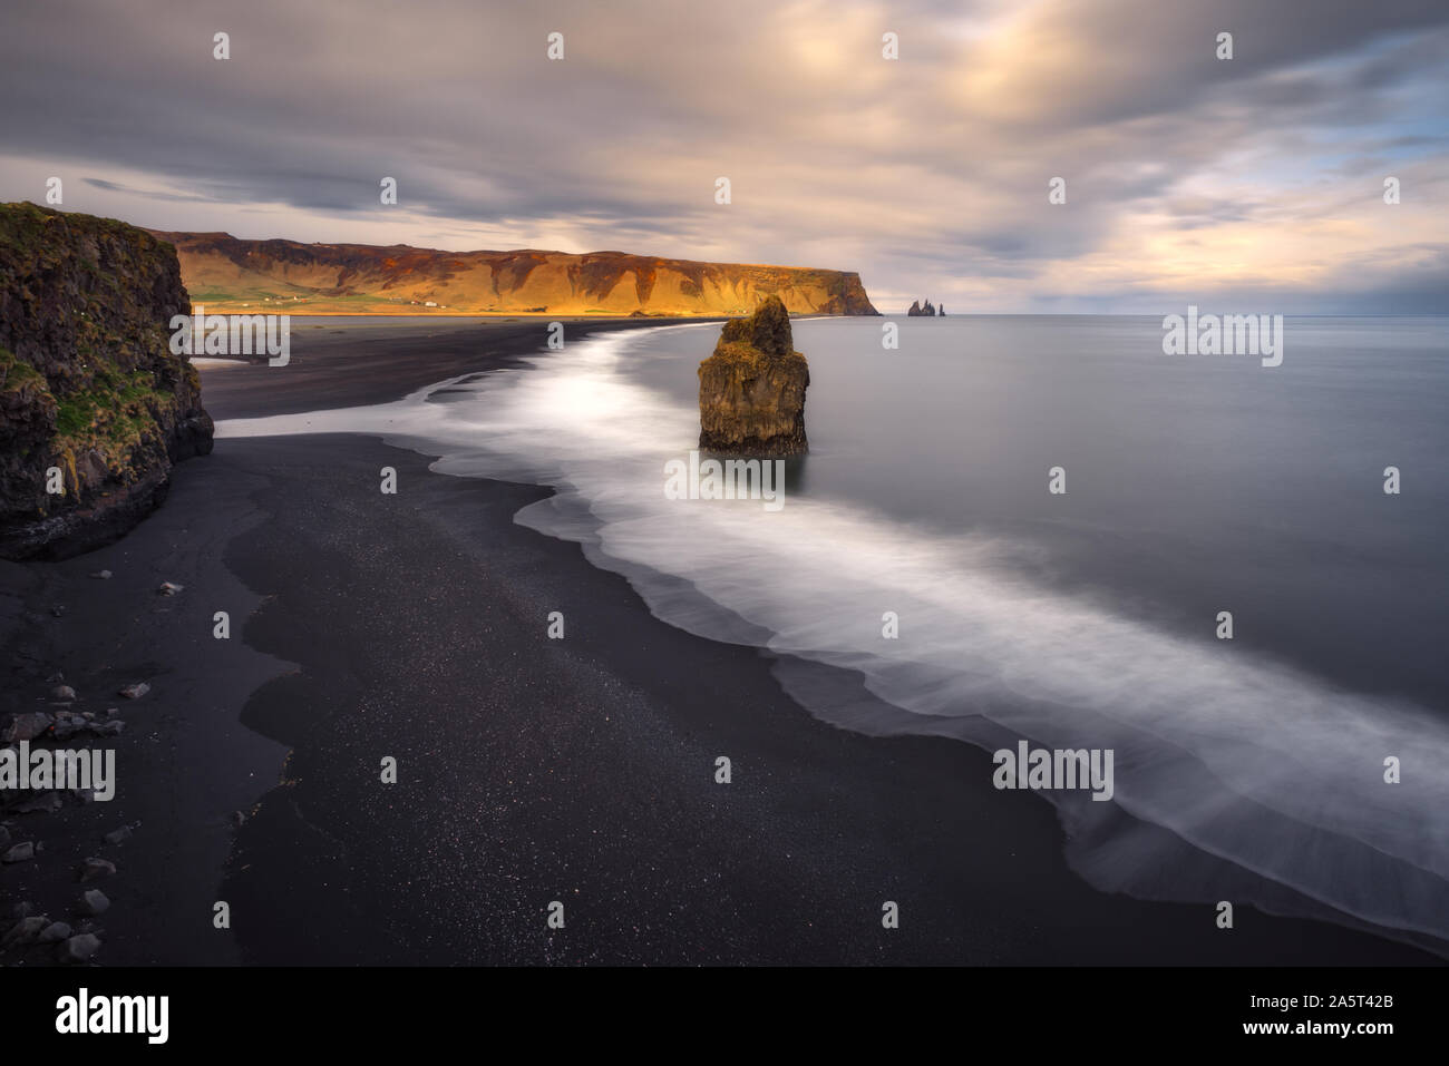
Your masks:
{"label": "cloudy sky with golden glow above the sea and cliffs", "polygon": [[0,200],[156,229],[1449,311],[1446,0],[10,0],[0,87]]}

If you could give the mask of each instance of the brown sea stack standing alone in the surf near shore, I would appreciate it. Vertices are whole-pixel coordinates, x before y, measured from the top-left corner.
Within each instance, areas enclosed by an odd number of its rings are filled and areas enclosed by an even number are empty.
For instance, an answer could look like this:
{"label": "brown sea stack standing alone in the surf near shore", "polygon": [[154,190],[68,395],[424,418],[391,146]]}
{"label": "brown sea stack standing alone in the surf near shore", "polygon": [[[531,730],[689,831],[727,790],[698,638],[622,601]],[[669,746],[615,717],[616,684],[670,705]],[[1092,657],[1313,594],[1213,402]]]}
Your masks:
{"label": "brown sea stack standing alone in the surf near shore", "polygon": [[726,456],[803,455],[810,365],[794,351],[790,314],[777,295],[748,319],[730,319],[700,364],[700,449]]}

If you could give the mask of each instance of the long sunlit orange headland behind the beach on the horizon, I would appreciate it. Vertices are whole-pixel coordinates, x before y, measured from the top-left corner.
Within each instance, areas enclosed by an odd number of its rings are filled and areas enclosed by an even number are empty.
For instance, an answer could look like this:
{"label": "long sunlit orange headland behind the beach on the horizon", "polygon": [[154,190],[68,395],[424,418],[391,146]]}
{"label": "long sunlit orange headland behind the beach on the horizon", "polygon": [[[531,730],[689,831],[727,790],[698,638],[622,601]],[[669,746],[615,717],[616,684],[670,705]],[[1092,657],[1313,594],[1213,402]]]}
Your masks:
{"label": "long sunlit orange headland behind the beach on the horizon", "polygon": [[858,274],[625,252],[439,252],[165,233],[209,311],[293,314],[749,314],[778,295],[800,314],[878,314]]}

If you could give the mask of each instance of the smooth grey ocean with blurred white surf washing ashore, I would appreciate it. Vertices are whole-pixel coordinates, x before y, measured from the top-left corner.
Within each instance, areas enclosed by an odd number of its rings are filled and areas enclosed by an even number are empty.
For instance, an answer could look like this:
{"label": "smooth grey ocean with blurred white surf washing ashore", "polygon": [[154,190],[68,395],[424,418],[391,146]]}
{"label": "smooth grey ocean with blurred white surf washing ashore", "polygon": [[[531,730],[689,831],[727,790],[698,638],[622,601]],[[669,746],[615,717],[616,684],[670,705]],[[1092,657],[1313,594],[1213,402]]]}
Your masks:
{"label": "smooth grey ocean with blurred white surf washing ashore", "polygon": [[1279,366],[1165,355],[1152,317],[893,322],[897,349],[881,319],[796,322],[811,450],[778,510],[664,492],[717,323],[217,435],[377,433],[552,485],[519,523],[764,649],[842,729],[1111,750],[1108,802],[1033,794],[1094,886],[1445,953],[1449,319],[1290,317]]}

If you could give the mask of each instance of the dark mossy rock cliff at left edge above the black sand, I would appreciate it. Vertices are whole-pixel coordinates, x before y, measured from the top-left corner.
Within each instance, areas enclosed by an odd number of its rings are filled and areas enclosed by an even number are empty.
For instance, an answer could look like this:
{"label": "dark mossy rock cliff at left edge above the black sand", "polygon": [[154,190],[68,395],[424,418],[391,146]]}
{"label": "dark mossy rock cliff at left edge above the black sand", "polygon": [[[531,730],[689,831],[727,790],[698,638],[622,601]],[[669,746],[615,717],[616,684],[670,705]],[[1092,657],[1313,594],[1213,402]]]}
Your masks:
{"label": "dark mossy rock cliff at left edge above the black sand", "polygon": [[0,204],[0,556],[113,540],[212,450],[197,371],[170,351],[190,311],[175,249],[145,230]]}

